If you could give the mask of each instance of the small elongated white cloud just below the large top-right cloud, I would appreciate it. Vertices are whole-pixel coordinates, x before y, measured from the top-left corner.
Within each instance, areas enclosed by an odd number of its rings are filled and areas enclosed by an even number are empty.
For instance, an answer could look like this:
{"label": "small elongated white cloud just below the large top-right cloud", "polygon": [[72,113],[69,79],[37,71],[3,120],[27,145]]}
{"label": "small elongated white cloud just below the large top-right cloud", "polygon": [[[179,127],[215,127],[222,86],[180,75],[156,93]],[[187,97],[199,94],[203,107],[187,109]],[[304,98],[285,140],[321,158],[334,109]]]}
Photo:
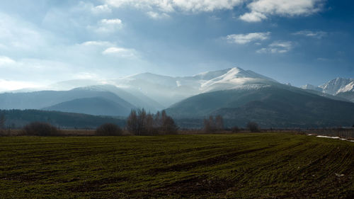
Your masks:
{"label": "small elongated white cloud just below the large top-right cloud", "polygon": [[269,38],[270,32],[267,33],[249,33],[249,34],[239,34],[239,35],[227,35],[226,40],[229,43],[236,44],[246,44],[256,40],[267,40]]}

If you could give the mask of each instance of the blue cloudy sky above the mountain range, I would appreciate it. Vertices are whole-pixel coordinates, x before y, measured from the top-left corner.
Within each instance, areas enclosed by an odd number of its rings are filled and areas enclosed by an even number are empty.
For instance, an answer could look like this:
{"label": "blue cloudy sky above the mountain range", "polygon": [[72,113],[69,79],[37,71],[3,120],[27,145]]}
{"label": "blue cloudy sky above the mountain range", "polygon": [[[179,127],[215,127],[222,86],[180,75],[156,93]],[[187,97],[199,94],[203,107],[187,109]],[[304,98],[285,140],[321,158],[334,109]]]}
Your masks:
{"label": "blue cloudy sky above the mountain range", "polygon": [[241,67],[294,86],[354,78],[350,0],[2,0],[0,91]]}

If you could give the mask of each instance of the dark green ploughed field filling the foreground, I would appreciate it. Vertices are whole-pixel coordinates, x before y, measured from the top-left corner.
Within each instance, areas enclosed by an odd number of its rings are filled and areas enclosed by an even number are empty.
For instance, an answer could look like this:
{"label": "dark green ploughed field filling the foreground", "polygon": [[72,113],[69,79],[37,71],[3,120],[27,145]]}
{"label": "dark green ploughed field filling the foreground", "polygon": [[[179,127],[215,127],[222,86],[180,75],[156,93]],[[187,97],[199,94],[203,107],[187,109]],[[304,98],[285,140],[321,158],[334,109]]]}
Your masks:
{"label": "dark green ploughed field filling the foreground", "polygon": [[0,137],[0,198],[354,198],[354,143],[291,133]]}

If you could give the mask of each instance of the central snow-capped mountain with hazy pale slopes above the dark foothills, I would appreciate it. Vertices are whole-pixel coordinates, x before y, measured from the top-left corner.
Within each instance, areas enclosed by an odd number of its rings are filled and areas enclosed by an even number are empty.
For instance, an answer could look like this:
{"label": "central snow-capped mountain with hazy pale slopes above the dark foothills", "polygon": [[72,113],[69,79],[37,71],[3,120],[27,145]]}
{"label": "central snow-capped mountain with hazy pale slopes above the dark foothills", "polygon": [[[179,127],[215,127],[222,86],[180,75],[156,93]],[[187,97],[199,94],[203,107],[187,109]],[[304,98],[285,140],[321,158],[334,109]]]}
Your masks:
{"label": "central snow-capped mountain with hazy pale slopes above the dark foothills", "polygon": [[163,106],[169,107],[173,103],[199,93],[238,89],[245,86],[248,89],[256,89],[272,82],[276,81],[250,70],[235,67],[183,77],[151,73],[136,74],[116,79],[115,85],[137,89]]}

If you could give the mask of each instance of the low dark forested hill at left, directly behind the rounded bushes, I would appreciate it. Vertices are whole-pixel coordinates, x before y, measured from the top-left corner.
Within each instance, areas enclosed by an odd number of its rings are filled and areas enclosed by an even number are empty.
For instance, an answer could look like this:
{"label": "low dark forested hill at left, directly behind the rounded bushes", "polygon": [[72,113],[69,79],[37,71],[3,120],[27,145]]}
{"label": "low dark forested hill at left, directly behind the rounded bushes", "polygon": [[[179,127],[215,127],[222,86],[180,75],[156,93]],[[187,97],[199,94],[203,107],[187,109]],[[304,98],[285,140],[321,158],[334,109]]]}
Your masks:
{"label": "low dark forested hill at left, directly behind the rounded bushes", "polygon": [[6,118],[6,127],[19,128],[28,123],[39,121],[50,123],[61,128],[96,128],[104,123],[115,123],[125,126],[124,118],[93,116],[79,113],[62,113],[45,110],[0,110]]}

